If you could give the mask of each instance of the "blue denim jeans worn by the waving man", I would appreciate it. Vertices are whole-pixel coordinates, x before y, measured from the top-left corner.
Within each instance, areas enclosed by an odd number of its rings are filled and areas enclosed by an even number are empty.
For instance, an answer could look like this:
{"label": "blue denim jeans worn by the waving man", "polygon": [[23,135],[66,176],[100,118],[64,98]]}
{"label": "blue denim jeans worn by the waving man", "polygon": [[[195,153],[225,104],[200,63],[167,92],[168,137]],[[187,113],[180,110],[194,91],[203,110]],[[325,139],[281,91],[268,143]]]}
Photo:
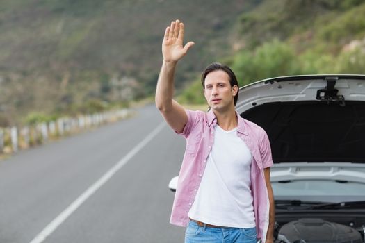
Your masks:
{"label": "blue denim jeans worn by the waving man", "polygon": [[189,221],[185,232],[185,243],[257,243],[256,227],[254,228],[211,228],[200,227]]}

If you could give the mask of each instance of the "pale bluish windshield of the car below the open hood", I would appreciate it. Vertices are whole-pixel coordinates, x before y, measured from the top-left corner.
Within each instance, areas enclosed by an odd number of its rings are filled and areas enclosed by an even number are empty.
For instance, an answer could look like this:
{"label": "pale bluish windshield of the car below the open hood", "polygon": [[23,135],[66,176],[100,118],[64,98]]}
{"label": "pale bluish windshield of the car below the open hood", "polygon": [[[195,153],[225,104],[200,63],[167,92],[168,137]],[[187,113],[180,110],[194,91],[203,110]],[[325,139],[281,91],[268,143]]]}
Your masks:
{"label": "pale bluish windshield of the car below the open hood", "polygon": [[276,200],[305,200],[330,203],[365,200],[365,183],[298,180],[274,181],[271,185]]}

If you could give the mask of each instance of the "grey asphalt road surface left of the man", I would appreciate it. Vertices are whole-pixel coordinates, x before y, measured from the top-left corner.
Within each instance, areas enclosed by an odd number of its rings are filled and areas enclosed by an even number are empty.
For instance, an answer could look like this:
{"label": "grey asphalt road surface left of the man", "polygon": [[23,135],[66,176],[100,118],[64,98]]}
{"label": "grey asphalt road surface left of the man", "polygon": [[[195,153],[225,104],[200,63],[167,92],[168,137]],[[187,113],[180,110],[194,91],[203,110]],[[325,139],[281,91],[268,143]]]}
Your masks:
{"label": "grey asphalt road surface left of the man", "polygon": [[[167,187],[184,139],[163,126],[136,147],[162,122],[147,106],[131,119],[0,161],[0,242],[31,242],[123,158],[127,163],[39,242],[184,242],[184,228],[168,223],[174,194]],[[140,150],[128,160],[133,149]]]}

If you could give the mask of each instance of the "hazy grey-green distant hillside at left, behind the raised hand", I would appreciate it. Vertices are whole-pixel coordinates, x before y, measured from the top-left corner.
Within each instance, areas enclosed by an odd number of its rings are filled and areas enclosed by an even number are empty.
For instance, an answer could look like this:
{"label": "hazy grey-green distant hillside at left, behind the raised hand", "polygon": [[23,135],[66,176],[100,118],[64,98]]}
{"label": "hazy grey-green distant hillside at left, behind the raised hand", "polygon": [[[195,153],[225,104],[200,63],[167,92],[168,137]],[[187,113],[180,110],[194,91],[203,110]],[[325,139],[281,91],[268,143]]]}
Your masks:
{"label": "hazy grey-green distant hillside at left, behind the raised hand", "polygon": [[259,1],[6,0],[0,4],[0,126],[30,110],[92,112],[151,94],[170,21],[196,42],[177,83],[230,51],[230,26]]}

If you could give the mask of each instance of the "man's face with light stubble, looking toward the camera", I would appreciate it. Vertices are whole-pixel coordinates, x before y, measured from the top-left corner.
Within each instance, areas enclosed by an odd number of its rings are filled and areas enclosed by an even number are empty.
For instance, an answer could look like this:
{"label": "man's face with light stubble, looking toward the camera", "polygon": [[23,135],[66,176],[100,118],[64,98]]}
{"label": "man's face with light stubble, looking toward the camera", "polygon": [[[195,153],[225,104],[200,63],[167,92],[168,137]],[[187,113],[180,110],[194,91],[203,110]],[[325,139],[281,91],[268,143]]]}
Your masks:
{"label": "man's face with light stubble, looking toward the camera", "polygon": [[238,87],[231,87],[229,76],[222,70],[210,72],[205,77],[204,96],[213,110],[224,111],[234,106]]}

